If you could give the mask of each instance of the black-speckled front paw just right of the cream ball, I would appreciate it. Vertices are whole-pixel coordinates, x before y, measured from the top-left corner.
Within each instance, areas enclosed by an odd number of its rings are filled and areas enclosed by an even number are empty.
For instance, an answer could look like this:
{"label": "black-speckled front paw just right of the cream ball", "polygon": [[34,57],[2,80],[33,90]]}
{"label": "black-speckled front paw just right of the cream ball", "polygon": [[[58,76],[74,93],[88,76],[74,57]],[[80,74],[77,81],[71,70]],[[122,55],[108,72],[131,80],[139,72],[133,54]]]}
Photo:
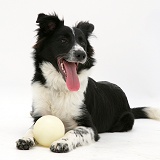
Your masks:
{"label": "black-speckled front paw just right of the cream ball", "polygon": [[73,145],[70,145],[66,140],[59,140],[52,143],[50,150],[56,153],[67,153],[73,148]]}

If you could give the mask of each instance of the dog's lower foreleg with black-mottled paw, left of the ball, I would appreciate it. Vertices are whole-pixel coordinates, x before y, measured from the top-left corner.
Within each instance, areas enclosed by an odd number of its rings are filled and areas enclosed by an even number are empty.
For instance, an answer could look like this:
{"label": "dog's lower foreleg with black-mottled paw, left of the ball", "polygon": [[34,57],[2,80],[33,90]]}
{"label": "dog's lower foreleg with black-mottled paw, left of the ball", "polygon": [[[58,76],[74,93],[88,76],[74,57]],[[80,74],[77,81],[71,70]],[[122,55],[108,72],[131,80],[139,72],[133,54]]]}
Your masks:
{"label": "dog's lower foreleg with black-mottled paw, left of the ball", "polygon": [[16,146],[20,150],[29,150],[35,145],[35,140],[33,137],[33,126],[26,132],[23,138],[16,142]]}

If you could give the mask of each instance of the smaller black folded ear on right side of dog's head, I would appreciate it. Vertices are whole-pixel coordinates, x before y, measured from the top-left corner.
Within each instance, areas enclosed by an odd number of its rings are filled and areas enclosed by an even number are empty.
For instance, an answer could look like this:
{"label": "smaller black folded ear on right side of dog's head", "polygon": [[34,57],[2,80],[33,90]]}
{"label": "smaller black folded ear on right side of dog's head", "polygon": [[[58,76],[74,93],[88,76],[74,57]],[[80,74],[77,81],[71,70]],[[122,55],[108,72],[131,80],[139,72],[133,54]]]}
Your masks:
{"label": "smaller black folded ear on right side of dog's head", "polygon": [[89,22],[79,22],[76,27],[81,29],[86,38],[88,38],[94,30],[94,25]]}

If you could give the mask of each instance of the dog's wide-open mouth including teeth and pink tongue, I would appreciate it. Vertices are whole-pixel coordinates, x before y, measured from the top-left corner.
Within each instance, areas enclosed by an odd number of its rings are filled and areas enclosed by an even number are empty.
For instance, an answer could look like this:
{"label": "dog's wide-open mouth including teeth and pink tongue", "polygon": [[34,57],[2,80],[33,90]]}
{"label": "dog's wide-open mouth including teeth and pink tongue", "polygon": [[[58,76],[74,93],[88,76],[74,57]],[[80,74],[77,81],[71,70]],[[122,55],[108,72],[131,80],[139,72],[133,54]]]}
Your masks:
{"label": "dog's wide-open mouth including teeth and pink tongue", "polygon": [[78,91],[80,82],[77,74],[78,63],[58,58],[58,67],[70,91]]}

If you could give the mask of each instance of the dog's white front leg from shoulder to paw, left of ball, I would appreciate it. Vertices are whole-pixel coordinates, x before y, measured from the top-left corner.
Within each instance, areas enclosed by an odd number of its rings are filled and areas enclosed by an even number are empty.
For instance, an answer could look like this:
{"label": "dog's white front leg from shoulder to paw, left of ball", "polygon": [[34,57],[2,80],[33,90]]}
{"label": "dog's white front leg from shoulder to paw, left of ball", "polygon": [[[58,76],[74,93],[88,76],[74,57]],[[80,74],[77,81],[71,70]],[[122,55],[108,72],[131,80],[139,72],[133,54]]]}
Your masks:
{"label": "dog's white front leg from shoulder to paw, left of ball", "polygon": [[[32,84],[33,89],[33,106],[31,116],[36,122],[41,116],[51,114],[50,112],[50,95],[49,90],[38,82]],[[27,131],[23,138],[16,142],[17,148],[28,150],[35,145],[33,137],[33,126]]]}

